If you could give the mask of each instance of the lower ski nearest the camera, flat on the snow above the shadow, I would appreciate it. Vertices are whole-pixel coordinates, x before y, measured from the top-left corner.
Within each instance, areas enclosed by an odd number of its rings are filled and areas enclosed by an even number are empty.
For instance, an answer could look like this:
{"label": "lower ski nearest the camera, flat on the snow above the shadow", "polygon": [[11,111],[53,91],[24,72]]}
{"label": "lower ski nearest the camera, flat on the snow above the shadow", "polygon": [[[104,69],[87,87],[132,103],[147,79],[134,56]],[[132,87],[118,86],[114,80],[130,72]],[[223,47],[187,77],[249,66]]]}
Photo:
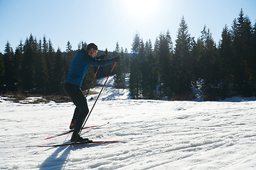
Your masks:
{"label": "lower ski nearest the camera, flat on the snow above the shadow", "polygon": [[77,142],[77,143],[64,143],[59,145],[39,145],[38,147],[63,147],[63,146],[76,146],[76,145],[93,145],[93,144],[107,144],[107,143],[118,143],[122,142],[119,140],[106,140],[106,141],[92,141],[89,140],[89,142]]}

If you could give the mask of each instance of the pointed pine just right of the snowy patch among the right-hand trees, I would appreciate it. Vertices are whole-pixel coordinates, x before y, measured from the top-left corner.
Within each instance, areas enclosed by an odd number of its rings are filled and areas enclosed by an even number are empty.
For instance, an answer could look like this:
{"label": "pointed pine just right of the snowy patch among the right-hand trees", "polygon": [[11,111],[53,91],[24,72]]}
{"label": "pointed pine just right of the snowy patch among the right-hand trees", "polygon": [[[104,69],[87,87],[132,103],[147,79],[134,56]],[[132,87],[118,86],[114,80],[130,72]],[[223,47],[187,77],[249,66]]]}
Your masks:
{"label": "pointed pine just right of the snowy patch among the right-hand trees", "polygon": [[210,33],[210,29],[204,26],[201,31],[201,37],[198,38],[197,42],[192,41],[192,51],[191,51],[194,74],[191,80],[197,81],[198,79],[203,79],[204,90],[206,100],[213,100],[219,95],[216,86],[220,83],[220,62],[218,61],[218,51],[215,42]]}

